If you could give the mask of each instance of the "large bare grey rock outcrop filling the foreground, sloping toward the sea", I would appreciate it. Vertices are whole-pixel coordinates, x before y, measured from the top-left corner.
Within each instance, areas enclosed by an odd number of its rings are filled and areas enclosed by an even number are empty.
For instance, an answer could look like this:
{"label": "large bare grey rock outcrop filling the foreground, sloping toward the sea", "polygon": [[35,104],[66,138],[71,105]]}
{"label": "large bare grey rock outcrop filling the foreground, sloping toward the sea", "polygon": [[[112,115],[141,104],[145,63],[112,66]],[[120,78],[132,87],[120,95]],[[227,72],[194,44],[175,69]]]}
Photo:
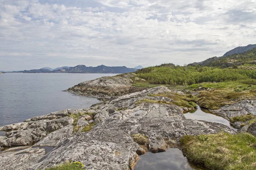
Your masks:
{"label": "large bare grey rock outcrop filling the foreground, sloping toward the sea", "polygon": [[[73,121],[68,121],[69,123],[65,125],[61,124],[61,127],[58,126],[58,129],[50,132],[44,138],[42,137],[35,144],[55,147],[47,155],[44,155],[45,150],[38,149],[38,153],[36,151],[33,153],[37,155],[32,154],[31,156],[34,157],[29,158],[29,154],[17,155],[7,150],[7,152],[0,153],[0,168],[12,170],[13,167],[9,166],[8,160],[24,162],[16,166],[16,170],[26,168],[43,170],[46,167],[72,160],[82,162],[86,169],[132,170],[138,159],[138,154],[143,154],[145,151],[163,152],[168,147],[178,147],[179,139],[184,135],[218,133],[220,130],[235,133],[229,127],[219,123],[186,119],[183,115],[186,108],[177,105],[139,102],[143,99],[165,100],[164,97],[148,96],[149,94],[159,93],[183,94],[180,91],[169,90],[160,86],[120,96],[91,108],[50,113],[28,119],[26,122],[17,125],[0,127],[1,130],[14,131],[15,129],[16,134],[22,134],[26,129],[37,131],[41,122],[60,121],[61,119],[71,120],[73,119],[71,117],[76,117],[74,115],[81,114],[82,111],[92,114],[86,115],[84,113],[79,118],[79,120],[81,119],[80,122],[89,120],[89,122],[96,121],[98,123],[90,131],[80,133],[71,133]],[[73,116],[70,116],[70,114],[73,114]],[[89,116],[91,116],[91,120]],[[28,124],[30,123],[31,125],[35,123],[33,128],[29,128]],[[42,131],[48,129],[48,126],[43,127],[45,128]],[[132,137],[134,134],[145,136],[147,139],[145,144],[141,145],[134,141]],[[7,135],[6,138],[8,137]],[[23,139],[24,136],[15,136],[16,141],[19,141],[20,138]],[[39,137],[37,140],[39,140]],[[12,142],[8,141],[10,140],[3,139],[3,143],[6,142],[12,146]],[[33,147],[29,148],[32,149]],[[25,152],[25,148],[23,151]],[[30,151],[28,150],[28,152]],[[11,163],[14,164],[12,161]]]}

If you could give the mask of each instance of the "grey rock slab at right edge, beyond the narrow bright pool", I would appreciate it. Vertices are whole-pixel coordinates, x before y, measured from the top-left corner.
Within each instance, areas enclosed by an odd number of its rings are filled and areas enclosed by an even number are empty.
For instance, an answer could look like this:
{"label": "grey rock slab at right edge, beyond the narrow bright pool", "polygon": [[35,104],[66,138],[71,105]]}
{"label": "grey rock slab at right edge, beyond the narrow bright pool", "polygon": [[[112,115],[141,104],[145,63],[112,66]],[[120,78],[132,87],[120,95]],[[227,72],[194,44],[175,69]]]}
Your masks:
{"label": "grey rock slab at right edge, beyond the narrow bright pool", "polygon": [[252,114],[256,116],[256,100],[245,99],[232,105],[225,105],[212,113],[230,120],[231,117]]}

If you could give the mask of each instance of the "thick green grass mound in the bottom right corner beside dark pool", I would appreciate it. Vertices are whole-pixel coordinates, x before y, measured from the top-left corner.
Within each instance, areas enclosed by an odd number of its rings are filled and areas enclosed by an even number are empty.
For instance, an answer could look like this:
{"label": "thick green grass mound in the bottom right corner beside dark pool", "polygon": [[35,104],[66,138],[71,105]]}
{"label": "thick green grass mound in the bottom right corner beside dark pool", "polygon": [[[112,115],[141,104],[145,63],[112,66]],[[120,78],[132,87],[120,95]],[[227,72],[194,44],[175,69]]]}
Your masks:
{"label": "thick green grass mound in the bottom right corner beside dark pool", "polygon": [[256,138],[249,133],[217,133],[180,139],[189,161],[211,170],[255,170]]}

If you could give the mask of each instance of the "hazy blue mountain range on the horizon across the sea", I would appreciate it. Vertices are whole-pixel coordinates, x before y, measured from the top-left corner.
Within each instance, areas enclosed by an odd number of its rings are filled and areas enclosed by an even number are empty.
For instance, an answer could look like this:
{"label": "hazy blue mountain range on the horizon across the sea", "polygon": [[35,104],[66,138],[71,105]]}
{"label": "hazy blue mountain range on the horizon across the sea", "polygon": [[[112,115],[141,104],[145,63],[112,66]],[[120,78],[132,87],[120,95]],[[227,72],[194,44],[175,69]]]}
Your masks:
{"label": "hazy blue mountain range on the horizon across the sea", "polygon": [[49,70],[49,69],[33,69],[33,70],[24,70],[17,71],[18,73],[114,73],[114,74],[123,74],[131,73],[137,71],[136,68],[127,68],[125,66],[121,67],[108,67],[105,65],[99,65],[97,67],[87,67],[85,65],[77,65],[75,67],[62,67],[58,70]]}

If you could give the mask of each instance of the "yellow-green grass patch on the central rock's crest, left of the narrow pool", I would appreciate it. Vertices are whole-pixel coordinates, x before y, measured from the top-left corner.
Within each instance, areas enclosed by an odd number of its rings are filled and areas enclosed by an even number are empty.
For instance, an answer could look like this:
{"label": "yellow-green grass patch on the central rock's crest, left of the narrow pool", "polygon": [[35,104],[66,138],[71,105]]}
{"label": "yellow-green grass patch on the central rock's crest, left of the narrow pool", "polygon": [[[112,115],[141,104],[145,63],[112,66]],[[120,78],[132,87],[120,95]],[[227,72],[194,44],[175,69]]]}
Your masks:
{"label": "yellow-green grass patch on the central rock's crest, left of the narrow pool", "polygon": [[178,105],[186,108],[197,108],[197,104],[193,102],[195,100],[195,96],[192,95],[182,95],[182,94],[171,94],[171,93],[161,93],[161,94],[150,94],[148,96],[162,96],[162,97],[168,97],[170,99],[173,99],[173,102],[166,102],[162,100],[152,100],[152,99],[143,99],[138,101],[135,104],[139,104],[141,102],[147,102],[147,103],[158,103],[158,104],[168,104],[168,105]]}

